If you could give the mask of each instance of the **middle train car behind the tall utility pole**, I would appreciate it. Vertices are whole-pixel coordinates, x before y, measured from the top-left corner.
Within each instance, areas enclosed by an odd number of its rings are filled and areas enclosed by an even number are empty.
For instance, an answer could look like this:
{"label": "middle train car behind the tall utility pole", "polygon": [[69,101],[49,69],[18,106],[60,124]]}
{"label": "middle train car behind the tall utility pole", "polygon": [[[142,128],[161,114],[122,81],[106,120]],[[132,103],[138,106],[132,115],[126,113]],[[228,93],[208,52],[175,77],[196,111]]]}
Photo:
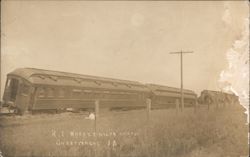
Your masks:
{"label": "middle train car behind the tall utility pole", "polygon": [[[176,99],[181,103],[180,88],[147,84],[151,90],[152,108],[174,108],[176,107]],[[183,90],[184,106],[193,107],[197,100],[197,94],[192,90]]]}

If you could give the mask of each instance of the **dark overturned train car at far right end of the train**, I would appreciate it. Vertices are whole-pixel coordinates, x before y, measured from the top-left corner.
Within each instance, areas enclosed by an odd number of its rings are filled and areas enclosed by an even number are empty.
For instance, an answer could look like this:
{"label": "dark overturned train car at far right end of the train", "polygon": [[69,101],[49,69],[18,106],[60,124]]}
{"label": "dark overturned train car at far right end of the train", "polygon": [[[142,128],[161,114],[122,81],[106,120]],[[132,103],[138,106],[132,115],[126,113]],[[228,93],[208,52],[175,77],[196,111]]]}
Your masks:
{"label": "dark overturned train car at far right end of the train", "polygon": [[239,100],[238,96],[235,94],[224,93],[221,91],[203,90],[198,98],[198,102],[203,105],[224,105],[239,103]]}

